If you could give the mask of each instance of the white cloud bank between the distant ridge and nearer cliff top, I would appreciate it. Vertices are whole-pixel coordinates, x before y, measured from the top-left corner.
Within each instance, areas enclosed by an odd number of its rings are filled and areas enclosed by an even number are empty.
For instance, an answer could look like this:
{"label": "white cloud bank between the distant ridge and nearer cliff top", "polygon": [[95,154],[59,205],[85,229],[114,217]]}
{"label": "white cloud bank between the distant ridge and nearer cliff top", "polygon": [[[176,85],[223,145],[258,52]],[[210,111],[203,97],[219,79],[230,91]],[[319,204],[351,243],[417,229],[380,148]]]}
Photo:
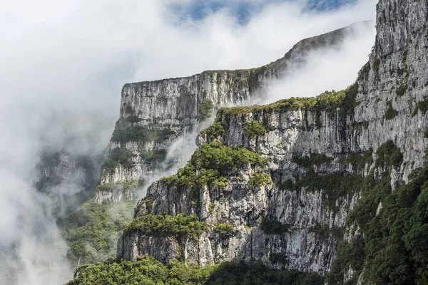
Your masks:
{"label": "white cloud bank between the distant ridge and nearer cliff top", "polygon": [[367,62],[376,34],[373,23],[354,25],[336,48],[309,53],[305,58],[306,65],[295,66],[290,76],[270,83],[261,103],[290,97],[310,97],[325,90],[343,90],[350,86],[355,82],[362,63]]}

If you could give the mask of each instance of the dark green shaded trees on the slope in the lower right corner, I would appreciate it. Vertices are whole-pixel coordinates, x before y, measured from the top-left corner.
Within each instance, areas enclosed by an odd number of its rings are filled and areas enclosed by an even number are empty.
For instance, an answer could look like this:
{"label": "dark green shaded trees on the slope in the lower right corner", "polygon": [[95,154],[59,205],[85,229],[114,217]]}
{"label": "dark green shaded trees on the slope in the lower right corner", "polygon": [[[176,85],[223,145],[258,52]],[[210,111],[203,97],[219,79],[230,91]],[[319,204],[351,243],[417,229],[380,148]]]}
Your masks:
{"label": "dark green shaded trees on the slope in the lower right corner", "polygon": [[362,197],[347,217],[348,226],[356,223],[361,233],[340,242],[329,284],[343,284],[349,266],[355,274],[347,284],[356,284],[361,273],[365,284],[414,284],[428,276],[428,162],[409,175],[407,185],[392,191],[391,173],[400,167],[402,154],[387,141],[376,157]]}

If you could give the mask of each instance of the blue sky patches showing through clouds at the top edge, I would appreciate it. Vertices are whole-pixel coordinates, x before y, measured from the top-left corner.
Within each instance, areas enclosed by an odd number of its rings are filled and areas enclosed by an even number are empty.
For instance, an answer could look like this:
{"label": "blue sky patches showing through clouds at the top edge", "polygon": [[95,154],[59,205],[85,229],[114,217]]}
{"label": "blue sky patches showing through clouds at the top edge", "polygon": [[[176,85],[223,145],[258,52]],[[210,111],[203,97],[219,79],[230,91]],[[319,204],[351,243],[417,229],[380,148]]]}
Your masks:
{"label": "blue sky patches showing through clouds at the top edge", "polygon": [[[175,5],[171,9],[175,10],[181,18],[193,20],[204,19],[207,14],[220,9],[228,9],[230,14],[235,16],[238,23],[245,24],[248,19],[263,6],[268,4],[295,1],[295,0],[193,0],[190,4]],[[307,11],[332,11],[340,9],[342,6],[355,4],[356,0],[307,0]]]}

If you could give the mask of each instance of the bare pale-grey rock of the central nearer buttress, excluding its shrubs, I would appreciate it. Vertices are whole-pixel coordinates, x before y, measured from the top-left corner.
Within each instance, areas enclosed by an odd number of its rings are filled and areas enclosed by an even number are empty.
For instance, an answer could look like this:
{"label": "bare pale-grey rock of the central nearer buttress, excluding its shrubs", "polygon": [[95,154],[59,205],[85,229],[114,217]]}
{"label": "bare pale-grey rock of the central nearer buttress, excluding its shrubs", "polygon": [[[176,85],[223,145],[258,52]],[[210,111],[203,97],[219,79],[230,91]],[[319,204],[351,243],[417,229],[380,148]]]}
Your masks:
{"label": "bare pale-grey rock of the central nearer buttress, excluding its shrubs", "polygon": [[[339,162],[346,157],[344,149],[352,152],[355,148],[352,140],[347,140],[352,137],[337,136],[350,123],[341,123],[338,116],[329,118],[324,113],[321,115],[326,117],[324,125],[315,130],[317,116],[302,110],[283,113],[251,110],[237,115],[222,112],[218,120],[225,133],[214,140],[220,141],[221,147],[243,145],[267,157],[267,165],[240,166],[227,175],[224,188],[214,184],[187,187],[171,184],[170,180],[151,185],[146,199],[136,208],[137,219],[147,214],[197,214],[210,229],[198,241],[147,236],[138,229],[130,230],[119,243],[118,255],[135,260],[139,255],[151,254],[161,261],[180,257],[202,265],[223,259],[255,258],[277,268],[287,266],[327,273],[337,246],[337,238],[329,232],[339,233],[345,227],[346,213],[355,203],[355,195],[332,197],[332,191],[322,187],[292,190],[299,177],[312,171],[296,157],[323,153],[328,157],[322,156],[326,162],[317,165],[316,173],[326,177],[349,173],[351,182],[358,181],[359,175],[355,175],[352,167]],[[250,130],[245,130],[245,126],[251,122],[260,123],[264,134],[253,138],[248,135]],[[213,143],[210,135],[198,138],[201,146]],[[263,180],[260,173],[266,174],[267,179]],[[198,192],[199,199],[192,199],[193,191]],[[233,229],[219,232],[216,227],[220,224],[230,224]],[[280,257],[280,261],[273,257]]]}

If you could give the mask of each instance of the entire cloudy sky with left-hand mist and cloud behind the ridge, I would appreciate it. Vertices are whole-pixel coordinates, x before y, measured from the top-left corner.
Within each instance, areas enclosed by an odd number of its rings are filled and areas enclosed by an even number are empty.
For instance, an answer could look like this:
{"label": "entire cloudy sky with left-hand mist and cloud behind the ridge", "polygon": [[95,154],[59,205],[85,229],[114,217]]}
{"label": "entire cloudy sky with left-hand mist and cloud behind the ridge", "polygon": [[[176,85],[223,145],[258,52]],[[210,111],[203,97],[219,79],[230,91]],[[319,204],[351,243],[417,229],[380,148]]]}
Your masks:
{"label": "entire cloudy sky with left-hand mist and cloud behind the ridge", "polygon": [[[72,269],[52,201],[34,188],[42,150],[103,150],[124,83],[263,66],[302,38],[374,19],[376,0],[0,3],[0,257],[9,254],[0,280],[18,272],[17,284],[51,285]],[[356,31],[340,50],[312,54],[268,97],[346,88],[373,43],[374,26]]]}

